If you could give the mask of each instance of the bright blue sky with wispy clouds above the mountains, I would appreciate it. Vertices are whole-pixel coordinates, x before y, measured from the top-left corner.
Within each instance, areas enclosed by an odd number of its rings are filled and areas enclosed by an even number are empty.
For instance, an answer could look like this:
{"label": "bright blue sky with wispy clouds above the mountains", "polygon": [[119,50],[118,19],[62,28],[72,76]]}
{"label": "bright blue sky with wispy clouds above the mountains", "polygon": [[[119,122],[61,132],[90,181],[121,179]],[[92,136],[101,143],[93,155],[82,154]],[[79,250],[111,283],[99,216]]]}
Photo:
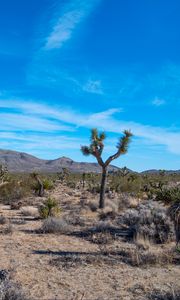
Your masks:
{"label": "bright blue sky with wispy clouds above the mountains", "polygon": [[179,0],[0,0],[0,148],[104,158],[131,129],[134,170],[180,169]]}

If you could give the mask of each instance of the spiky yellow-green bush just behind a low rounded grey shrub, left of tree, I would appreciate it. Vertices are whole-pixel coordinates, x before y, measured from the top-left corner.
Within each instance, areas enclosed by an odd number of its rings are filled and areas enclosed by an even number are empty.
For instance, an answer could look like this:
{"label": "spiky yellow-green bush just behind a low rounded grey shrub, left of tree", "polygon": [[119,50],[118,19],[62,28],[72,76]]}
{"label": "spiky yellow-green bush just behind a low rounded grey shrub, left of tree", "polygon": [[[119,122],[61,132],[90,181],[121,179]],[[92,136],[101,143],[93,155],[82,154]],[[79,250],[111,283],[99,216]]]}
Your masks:
{"label": "spiky yellow-green bush just behind a low rounded grey shrub, left of tree", "polygon": [[42,219],[46,219],[48,217],[58,216],[60,211],[56,199],[49,197],[39,208],[39,215]]}

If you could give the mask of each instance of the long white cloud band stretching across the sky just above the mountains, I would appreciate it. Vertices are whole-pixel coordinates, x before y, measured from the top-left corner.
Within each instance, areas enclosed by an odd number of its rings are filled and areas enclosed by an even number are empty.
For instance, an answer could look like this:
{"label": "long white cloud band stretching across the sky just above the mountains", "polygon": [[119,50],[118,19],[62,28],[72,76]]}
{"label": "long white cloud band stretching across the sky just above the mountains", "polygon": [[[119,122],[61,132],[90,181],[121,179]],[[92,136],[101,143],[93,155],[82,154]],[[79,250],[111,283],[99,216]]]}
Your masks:
{"label": "long white cloud band stretching across the sky just above the mountains", "polygon": [[[4,105],[4,106],[3,106]],[[0,101],[0,106],[4,108],[12,107],[11,101]],[[133,121],[122,121],[119,118],[119,113],[121,110],[118,109],[109,109],[106,111],[91,113],[91,114],[83,114],[78,113],[73,110],[64,109],[64,108],[53,108],[48,105],[36,104],[34,102],[21,102],[14,101],[13,107],[21,111],[21,115],[19,115],[19,119],[22,118],[21,128],[23,128],[23,124],[28,121],[31,122],[31,125],[26,126],[26,130],[34,130],[36,131],[39,128],[37,125],[37,120],[39,120],[40,124],[42,122],[42,117],[44,115],[48,115],[50,120],[54,120],[53,124],[46,124],[45,128],[42,125],[42,130],[51,131],[52,133],[58,130],[58,122],[61,125],[67,126],[72,129],[78,130],[78,127],[92,128],[97,127],[100,130],[105,130],[107,132],[112,132],[116,134],[120,134],[124,129],[131,129],[133,134],[137,139],[139,139],[140,144],[150,143],[151,145],[162,145],[166,147],[166,149],[175,154],[180,154],[180,129],[179,128],[161,128],[155,126],[149,126],[140,124]],[[27,120],[26,114],[31,111],[31,114],[35,120]],[[12,114],[12,113],[11,113]],[[25,119],[23,118],[25,116]],[[6,125],[5,116],[3,116],[3,122]],[[18,116],[15,114],[14,117],[12,115],[11,118],[13,121],[8,123],[8,130],[10,131],[10,127],[13,131],[15,126],[19,126]],[[2,119],[1,119],[2,120]],[[18,125],[16,125],[16,122]],[[51,121],[52,122],[52,121]],[[5,126],[4,126],[5,128]],[[59,129],[60,130],[60,129]]]}

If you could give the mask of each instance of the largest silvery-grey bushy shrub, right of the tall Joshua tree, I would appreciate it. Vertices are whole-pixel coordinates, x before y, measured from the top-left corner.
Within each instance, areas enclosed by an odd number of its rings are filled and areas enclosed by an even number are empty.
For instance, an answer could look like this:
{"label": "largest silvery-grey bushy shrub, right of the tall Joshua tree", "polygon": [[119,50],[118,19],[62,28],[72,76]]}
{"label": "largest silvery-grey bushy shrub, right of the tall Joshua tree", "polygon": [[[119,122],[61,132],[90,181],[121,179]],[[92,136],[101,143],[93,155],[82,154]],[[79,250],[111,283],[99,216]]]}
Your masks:
{"label": "largest silvery-grey bushy shrub, right of the tall Joshua tree", "polygon": [[117,222],[129,226],[134,238],[138,234],[155,243],[174,239],[173,222],[167,216],[166,208],[154,201],[146,201],[136,209],[128,209]]}

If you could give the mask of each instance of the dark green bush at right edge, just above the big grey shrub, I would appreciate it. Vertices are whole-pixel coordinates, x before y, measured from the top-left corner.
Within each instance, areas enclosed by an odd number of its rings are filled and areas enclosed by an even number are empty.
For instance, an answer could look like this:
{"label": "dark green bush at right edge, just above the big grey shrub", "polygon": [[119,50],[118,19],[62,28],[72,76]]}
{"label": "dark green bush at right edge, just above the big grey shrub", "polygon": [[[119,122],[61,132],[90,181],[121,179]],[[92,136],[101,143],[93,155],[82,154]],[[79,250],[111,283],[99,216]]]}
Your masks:
{"label": "dark green bush at right edge, just above the big grey shrub", "polygon": [[180,201],[180,188],[173,187],[170,189],[163,189],[156,192],[157,201],[162,201],[165,204],[171,204]]}

